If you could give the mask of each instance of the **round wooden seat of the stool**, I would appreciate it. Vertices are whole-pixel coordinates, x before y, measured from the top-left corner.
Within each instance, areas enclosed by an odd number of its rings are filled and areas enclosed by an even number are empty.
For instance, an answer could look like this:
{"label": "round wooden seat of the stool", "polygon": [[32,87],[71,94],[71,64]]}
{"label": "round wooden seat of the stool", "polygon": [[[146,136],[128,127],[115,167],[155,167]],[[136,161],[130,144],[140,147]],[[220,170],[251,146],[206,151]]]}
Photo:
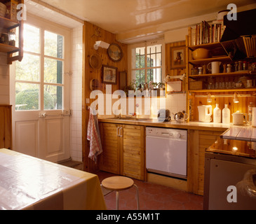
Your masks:
{"label": "round wooden seat of the stool", "polygon": [[133,180],[125,176],[112,176],[102,181],[102,186],[108,190],[126,190],[133,184]]}

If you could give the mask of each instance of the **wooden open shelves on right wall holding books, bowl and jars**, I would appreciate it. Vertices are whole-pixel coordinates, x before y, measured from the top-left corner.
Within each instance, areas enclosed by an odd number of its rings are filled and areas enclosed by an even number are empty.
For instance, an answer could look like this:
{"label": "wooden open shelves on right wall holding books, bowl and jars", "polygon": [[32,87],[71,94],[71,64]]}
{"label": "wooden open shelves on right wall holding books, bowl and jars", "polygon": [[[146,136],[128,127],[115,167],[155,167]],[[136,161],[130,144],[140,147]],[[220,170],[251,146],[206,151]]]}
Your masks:
{"label": "wooden open shelves on right wall holding books, bowl and jars", "polygon": [[[189,27],[189,29],[191,29]],[[191,33],[189,33],[191,34]],[[220,69],[220,73],[209,73],[209,71],[205,74],[191,75],[191,69],[197,68],[198,66],[202,66],[203,64],[207,65],[210,62],[222,62],[222,64],[233,64],[233,57],[229,55],[229,52],[224,49],[224,46],[220,42],[215,43],[205,43],[201,45],[191,45],[189,43],[191,41],[191,36],[187,36],[186,45],[187,45],[187,79],[186,79],[186,92],[187,92],[187,113],[189,114],[189,121],[197,121],[198,120],[198,111],[197,106],[200,105],[212,105],[213,109],[215,108],[215,104],[219,104],[220,109],[224,108],[224,104],[229,105],[229,109],[231,113],[236,111],[241,111],[243,113],[248,113],[248,105],[250,102],[254,102],[256,106],[256,71],[251,70],[242,70],[242,71],[232,71],[229,73],[223,73],[222,69]],[[211,57],[206,59],[193,59],[192,52],[198,48],[206,48],[211,52],[214,52]],[[255,57],[247,57],[243,59],[239,59],[247,62],[256,62]],[[238,59],[237,59],[238,61]],[[252,79],[252,87],[246,87],[243,83],[242,87],[220,87],[220,88],[208,88],[209,78],[213,80],[213,82],[218,83],[237,83],[241,78]],[[200,89],[190,89],[189,84],[191,82],[202,82],[202,88]],[[200,86],[200,85],[199,85]],[[214,85],[215,86],[215,85]],[[223,85],[222,85],[223,86]],[[238,93],[238,96],[248,95],[250,97],[240,97],[240,103],[234,104],[233,97],[234,93]],[[208,94],[213,96],[213,100],[211,103],[207,102]],[[222,96],[227,95],[227,97],[215,97],[217,94]],[[215,98],[214,98],[215,97]],[[232,119],[232,118],[231,118]]]}

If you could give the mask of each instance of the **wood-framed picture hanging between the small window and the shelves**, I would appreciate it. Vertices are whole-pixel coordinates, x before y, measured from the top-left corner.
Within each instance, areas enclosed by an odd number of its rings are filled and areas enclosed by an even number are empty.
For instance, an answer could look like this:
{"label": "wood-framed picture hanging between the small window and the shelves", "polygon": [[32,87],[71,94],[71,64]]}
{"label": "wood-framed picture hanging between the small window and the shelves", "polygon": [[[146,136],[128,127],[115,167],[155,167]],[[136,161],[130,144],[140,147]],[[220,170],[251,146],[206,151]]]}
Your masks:
{"label": "wood-framed picture hanging between the small window and the shelves", "polygon": [[182,69],[186,67],[186,46],[170,48],[170,69]]}

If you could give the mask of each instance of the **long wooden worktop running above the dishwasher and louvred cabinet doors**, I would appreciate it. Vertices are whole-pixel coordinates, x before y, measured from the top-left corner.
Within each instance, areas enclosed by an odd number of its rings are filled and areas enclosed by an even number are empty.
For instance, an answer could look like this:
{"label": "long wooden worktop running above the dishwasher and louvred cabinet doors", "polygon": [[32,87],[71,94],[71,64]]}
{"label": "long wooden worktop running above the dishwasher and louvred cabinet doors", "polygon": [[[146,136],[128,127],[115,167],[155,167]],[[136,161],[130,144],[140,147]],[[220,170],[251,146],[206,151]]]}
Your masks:
{"label": "long wooden worktop running above the dishwasher and louvred cabinet doors", "polygon": [[159,122],[158,119],[151,118],[135,118],[127,119],[127,118],[98,118],[99,122],[105,123],[118,123],[124,125],[142,125],[142,126],[150,126],[150,127],[170,127],[177,129],[187,129],[187,130],[213,130],[224,132],[229,129],[230,125],[226,124],[215,124],[215,123],[201,123],[201,122],[184,122],[177,123],[176,121],[169,122]]}

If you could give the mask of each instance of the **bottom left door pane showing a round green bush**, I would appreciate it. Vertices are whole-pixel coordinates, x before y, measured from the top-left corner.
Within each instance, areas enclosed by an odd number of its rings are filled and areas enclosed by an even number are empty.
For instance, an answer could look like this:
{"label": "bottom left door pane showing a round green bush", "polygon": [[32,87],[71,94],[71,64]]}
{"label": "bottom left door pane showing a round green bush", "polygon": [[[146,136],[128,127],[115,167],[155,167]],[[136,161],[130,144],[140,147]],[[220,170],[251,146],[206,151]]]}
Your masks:
{"label": "bottom left door pane showing a round green bush", "polygon": [[16,111],[39,110],[39,85],[29,83],[16,83],[15,85]]}

